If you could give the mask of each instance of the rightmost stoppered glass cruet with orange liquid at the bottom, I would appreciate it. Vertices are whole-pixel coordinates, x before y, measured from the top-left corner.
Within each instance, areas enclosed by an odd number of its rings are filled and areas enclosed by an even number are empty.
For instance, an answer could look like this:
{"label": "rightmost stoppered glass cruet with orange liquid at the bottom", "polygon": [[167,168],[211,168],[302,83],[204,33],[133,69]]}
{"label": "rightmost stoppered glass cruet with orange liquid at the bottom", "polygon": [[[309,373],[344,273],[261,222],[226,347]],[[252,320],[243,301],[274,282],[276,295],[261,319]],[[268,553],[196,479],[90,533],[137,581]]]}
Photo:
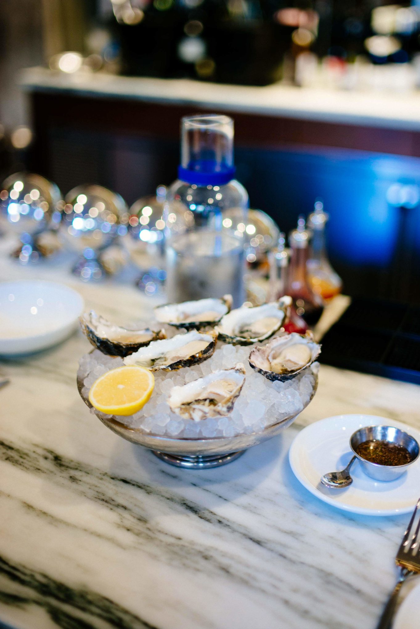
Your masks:
{"label": "rightmost stoppered glass cruet with orange liquid at the bottom", "polygon": [[316,201],[314,211],[307,218],[307,226],[312,231],[307,273],[312,291],[320,295],[324,301],[333,299],[341,292],[343,286],[340,276],[329,264],[326,252],[325,228],[328,219],[323,202]]}

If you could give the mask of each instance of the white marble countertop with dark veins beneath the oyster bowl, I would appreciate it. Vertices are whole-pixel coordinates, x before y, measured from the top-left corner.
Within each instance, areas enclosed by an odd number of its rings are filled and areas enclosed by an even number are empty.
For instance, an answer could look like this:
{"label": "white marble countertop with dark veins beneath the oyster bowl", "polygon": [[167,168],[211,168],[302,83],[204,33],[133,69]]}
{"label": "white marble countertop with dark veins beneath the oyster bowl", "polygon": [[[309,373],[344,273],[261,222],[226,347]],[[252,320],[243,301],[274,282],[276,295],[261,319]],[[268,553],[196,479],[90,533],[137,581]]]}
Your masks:
{"label": "white marble countertop with dark veins beneath the oyster bowl", "polygon": [[[150,301],[93,286],[58,263],[0,280],[58,279],[88,307],[130,319]],[[0,621],[18,629],[373,629],[394,586],[407,516],[342,513],[294,478],[297,432],[340,413],[420,427],[420,387],[321,365],[318,392],[280,437],[237,461],[182,470],[117,437],[75,386],[76,333],[3,361]],[[1,624],[1,623],[0,623]]]}

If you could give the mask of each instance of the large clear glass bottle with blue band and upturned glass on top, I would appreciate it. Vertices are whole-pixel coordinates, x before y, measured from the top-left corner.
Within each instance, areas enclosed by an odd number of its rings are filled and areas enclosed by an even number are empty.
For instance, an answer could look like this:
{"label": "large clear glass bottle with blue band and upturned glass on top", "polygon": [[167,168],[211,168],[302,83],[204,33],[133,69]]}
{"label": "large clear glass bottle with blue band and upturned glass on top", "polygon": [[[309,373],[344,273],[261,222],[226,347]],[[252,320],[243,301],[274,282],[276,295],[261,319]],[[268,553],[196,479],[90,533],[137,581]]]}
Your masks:
{"label": "large clear glass bottle with blue band and upturned glass on top", "polygon": [[169,213],[184,211],[183,224],[169,223],[167,297],[184,301],[230,293],[245,299],[244,234],[248,193],[233,179],[233,120],[219,114],[182,119],[179,179],[167,192]]}

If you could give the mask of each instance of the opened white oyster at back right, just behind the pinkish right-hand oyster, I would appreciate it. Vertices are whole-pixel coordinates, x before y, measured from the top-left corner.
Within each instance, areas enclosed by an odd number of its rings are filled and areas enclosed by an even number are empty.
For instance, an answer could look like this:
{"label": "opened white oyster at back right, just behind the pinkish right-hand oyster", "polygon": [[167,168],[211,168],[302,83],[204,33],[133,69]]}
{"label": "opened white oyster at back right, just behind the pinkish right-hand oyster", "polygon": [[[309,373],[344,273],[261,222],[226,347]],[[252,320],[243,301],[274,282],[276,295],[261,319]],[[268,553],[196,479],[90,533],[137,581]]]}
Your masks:
{"label": "opened white oyster at back right, just behind the pinkish right-hand oyster", "polygon": [[215,328],[219,339],[233,345],[251,345],[272,337],[284,323],[291,301],[286,296],[262,306],[231,310]]}

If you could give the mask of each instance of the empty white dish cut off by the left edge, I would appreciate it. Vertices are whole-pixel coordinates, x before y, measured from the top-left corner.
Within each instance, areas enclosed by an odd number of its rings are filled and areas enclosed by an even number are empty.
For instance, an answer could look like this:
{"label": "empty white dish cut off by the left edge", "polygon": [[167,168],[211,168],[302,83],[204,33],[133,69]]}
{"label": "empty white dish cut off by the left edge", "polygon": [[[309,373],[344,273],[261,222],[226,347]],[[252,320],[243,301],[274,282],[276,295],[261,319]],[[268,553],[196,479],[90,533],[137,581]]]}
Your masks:
{"label": "empty white dish cut off by the left edge", "polygon": [[78,292],[53,282],[0,284],[0,354],[43,350],[69,337],[83,310]]}

